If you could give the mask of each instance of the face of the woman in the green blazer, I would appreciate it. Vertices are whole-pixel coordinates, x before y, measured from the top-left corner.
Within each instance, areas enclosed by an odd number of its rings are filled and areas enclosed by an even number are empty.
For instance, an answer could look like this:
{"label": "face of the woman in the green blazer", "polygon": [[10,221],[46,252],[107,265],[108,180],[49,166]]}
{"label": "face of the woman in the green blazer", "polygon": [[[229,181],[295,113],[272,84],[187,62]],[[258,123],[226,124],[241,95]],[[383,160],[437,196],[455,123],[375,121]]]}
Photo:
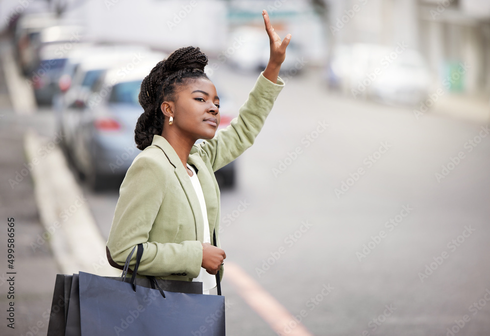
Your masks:
{"label": "face of the woman in the green blazer", "polygon": [[194,141],[212,139],[220,125],[220,98],[214,84],[209,79],[197,78],[177,88],[177,92],[170,127]]}

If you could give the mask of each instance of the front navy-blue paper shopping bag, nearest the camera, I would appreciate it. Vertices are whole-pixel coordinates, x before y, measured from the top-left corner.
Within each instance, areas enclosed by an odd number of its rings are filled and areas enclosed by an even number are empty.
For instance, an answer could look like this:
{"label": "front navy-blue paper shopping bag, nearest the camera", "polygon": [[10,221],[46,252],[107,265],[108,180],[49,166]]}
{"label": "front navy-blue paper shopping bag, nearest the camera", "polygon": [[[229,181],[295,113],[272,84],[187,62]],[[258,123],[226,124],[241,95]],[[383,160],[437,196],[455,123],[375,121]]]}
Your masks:
{"label": "front navy-blue paper shopping bag, nearest the camera", "polygon": [[[224,336],[224,297],[133,286],[79,273],[82,336]],[[218,317],[219,316],[219,317]]]}

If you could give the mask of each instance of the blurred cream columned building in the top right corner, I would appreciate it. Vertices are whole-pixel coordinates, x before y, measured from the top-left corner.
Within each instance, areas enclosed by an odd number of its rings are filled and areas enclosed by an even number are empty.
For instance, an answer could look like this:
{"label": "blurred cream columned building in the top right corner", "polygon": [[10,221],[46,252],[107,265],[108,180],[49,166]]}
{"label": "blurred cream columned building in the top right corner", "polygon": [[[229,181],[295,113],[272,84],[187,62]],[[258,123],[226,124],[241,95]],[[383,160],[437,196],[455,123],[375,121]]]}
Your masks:
{"label": "blurred cream columned building in the top right corner", "polygon": [[418,8],[421,51],[438,78],[455,75],[459,63],[468,70],[450,91],[490,91],[490,1],[421,1]]}

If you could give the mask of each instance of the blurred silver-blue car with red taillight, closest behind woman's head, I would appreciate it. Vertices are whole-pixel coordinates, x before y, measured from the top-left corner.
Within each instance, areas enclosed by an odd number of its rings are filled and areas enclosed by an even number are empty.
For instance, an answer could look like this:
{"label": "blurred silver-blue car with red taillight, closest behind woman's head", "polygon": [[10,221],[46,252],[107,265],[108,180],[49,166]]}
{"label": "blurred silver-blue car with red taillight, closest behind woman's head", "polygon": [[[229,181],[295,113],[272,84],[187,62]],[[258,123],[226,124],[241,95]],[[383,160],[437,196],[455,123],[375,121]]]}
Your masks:
{"label": "blurred silver-blue car with red taillight, closest behind woman's head", "polygon": [[103,187],[112,178],[123,178],[140,152],[134,129],[143,113],[138,103],[141,82],[164,57],[159,52],[147,52],[144,61],[127,72],[122,70],[127,69],[127,60],[120,59],[119,64],[113,61],[113,66],[93,83],[83,104],[76,103],[68,151],[73,165],[92,188]]}

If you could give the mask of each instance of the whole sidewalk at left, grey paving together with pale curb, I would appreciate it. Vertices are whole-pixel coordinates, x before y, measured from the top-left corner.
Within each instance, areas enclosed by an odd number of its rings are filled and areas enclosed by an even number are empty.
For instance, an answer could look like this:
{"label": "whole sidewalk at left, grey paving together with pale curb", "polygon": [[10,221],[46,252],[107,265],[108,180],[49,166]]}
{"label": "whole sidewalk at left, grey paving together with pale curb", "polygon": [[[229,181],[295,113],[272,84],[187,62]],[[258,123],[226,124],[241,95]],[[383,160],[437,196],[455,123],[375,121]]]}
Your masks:
{"label": "whole sidewalk at left, grey paving together with pale curb", "polygon": [[[111,276],[115,269],[102,260],[105,242],[95,232],[88,205],[79,201],[83,194],[56,144],[52,113],[29,114],[12,103],[24,95],[21,85],[11,85],[22,80],[16,67],[5,63],[9,48],[0,40],[0,335],[46,335],[57,273]],[[13,269],[7,261],[9,218],[15,229]],[[15,329],[7,327],[12,302]]]}

